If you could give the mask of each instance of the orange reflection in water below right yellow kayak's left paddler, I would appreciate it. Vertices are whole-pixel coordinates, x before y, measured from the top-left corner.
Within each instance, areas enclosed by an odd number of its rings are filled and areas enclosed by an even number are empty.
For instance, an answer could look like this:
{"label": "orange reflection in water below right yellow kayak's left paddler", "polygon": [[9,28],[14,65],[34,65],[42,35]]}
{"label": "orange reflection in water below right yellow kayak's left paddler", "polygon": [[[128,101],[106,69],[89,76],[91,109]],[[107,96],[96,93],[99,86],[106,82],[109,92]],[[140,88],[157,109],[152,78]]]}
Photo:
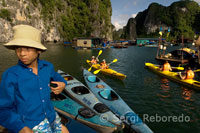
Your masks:
{"label": "orange reflection in water below right yellow kayak's left paddler", "polygon": [[161,87],[160,87],[160,94],[158,94],[159,97],[167,98],[170,97],[170,86],[169,86],[169,80],[166,78],[161,79]]}

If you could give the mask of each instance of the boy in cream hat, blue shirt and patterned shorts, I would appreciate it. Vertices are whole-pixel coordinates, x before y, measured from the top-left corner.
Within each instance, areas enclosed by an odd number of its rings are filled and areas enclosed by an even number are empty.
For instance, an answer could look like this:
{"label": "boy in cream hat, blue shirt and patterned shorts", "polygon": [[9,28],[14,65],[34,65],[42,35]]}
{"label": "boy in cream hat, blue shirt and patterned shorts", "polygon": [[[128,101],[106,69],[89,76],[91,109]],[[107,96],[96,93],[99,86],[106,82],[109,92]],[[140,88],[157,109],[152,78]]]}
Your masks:
{"label": "boy in cream hat, blue shirt and patterned shorts", "polygon": [[[61,93],[67,82],[53,64],[39,59],[46,50],[40,30],[29,25],[17,25],[13,30],[13,40],[4,46],[15,50],[19,61],[2,75],[0,125],[19,133],[68,133],[50,100],[50,91]],[[50,81],[57,87],[50,87]]]}

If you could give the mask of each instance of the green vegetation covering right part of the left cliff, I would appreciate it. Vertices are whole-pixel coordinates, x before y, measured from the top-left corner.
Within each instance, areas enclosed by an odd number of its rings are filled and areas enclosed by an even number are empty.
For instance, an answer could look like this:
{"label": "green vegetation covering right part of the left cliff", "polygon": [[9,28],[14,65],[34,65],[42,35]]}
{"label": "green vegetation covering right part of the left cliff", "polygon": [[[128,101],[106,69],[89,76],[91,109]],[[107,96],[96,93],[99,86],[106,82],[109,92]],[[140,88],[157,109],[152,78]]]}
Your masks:
{"label": "green vegetation covering right part of the left cliff", "polygon": [[[100,30],[99,37],[106,36],[111,28],[110,0],[31,0],[34,6],[42,5],[42,18],[56,25],[65,40],[74,37],[90,37]],[[110,9],[110,10],[109,10]],[[49,25],[50,26],[50,25]]]}

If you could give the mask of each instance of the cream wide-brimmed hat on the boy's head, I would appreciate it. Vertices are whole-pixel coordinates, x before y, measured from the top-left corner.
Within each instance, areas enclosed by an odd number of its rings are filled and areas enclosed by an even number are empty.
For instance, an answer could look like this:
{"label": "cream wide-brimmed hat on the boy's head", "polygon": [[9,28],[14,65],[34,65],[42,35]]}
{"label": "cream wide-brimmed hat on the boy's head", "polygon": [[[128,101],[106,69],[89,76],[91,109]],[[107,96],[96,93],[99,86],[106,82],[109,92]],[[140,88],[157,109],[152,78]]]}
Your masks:
{"label": "cream wide-brimmed hat on the boy's head", "polygon": [[15,49],[15,46],[37,48],[45,51],[47,48],[41,44],[41,32],[29,25],[17,25],[13,27],[13,40],[4,44],[8,49]]}

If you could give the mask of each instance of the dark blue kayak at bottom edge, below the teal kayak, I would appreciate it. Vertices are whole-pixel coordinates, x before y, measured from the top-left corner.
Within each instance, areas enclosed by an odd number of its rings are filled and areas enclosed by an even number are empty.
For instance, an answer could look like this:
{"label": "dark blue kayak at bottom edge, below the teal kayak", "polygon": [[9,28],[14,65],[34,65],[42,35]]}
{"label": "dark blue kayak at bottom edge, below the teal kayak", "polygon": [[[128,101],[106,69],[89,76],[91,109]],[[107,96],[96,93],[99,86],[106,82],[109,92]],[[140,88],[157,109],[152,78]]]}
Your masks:
{"label": "dark blue kayak at bottom edge, below the teal kayak", "polygon": [[[81,124],[80,122],[73,120],[72,118],[62,115],[59,113],[59,116],[61,117],[61,122],[67,127],[70,133],[96,133],[92,128],[89,128],[88,126]],[[79,127],[79,128],[77,128]]]}

